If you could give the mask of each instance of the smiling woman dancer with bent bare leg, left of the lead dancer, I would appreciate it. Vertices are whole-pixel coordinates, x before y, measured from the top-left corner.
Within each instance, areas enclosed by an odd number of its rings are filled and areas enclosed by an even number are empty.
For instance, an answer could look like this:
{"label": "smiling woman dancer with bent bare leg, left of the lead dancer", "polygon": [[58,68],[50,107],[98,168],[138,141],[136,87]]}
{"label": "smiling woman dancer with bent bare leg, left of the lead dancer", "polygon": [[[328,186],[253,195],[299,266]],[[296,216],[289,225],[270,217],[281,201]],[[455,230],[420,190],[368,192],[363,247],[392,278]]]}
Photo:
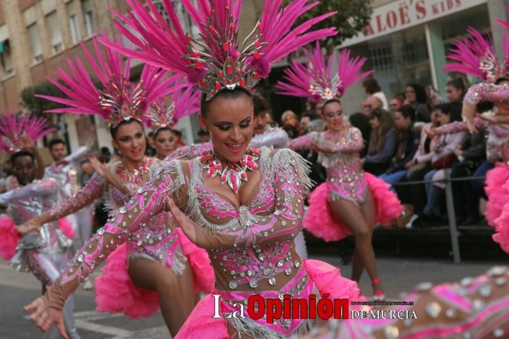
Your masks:
{"label": "smiling woman dancer with bent bare leg, left of the lead dancer", "polygon": [[[157,159],[144,156],[146,144],[141,122],[142,112],[146,111],[154,100],[179,91],[185,84],[176,83],[180,76],[165,79],[164,73],[158,73],[156,67],[146,66],[139,84],[134,86],[128,81],[129,61],[125,66],[126,73],[122,73],[123,56],[105,48],[106,60],[103,60],[95,40],[94,45],[101,68],[87,48],[82,46],[96,75],[103,82],[104,92],[97,91],[93,85],[87,87],[89,81],[92,84],[90,78],[75,76],[70,79],[60,69],[57,74],[68,87],[52,81],[71,99],[45,98],[71,106],[61,108],[59,112],[87,112],[98,114],[110,121],[112,145],[120,150],[122,160],[105,167],[92,158],[97,174],[73,199],[55,206],[51,212],[33,220],[34,227],[47,220],[74,213],[102,196],[106,198],[110,216],[115,215],[119,210],[122,211],[122,206],[129,198],[148,182],[151,172],[161,163]],[[71,69],[78,69],[82,74],[86,74],[79,60],[71,65]],[[121,92],[114,91],[117,89]],[[83,96],[83,92],[87,96]],[[178,97],[177,94],[175,96]],[[101,98],[100,102],[96,101],[97,97]],[[177,112],[170,109],[168,114],[182,117],[194,112],[192,108],[196,106],[197,96],[187,93],[182,98],[187,102],[176,103],[175,107],[184,110]],[[152,117],[154,114],[153,112]],[[165,122],[168,117],[156,118],[155,126],[164,128],[158,124]],[[168,127],[172,126],[174,121],[165,123]],[[166,326],[172,335],[176,335],[194,306],[193,275],[200,284],[200,290],[208,292],[212,289],[213,275],[210,266],[206,265],[206,252],[189,244],[184,236],[179,236],[166,214],[147,220],[143,228],[126,236],[127,243],[112,256],[103,271],[104,275],[96,279],[98,310],[123,312],[131,318],[138,318],[153,315],[160,306]],[[105,246],[109,247],[107,244]],[[193,265],[193,262],[197,264]],[[196,269],[194,274],[191,267]]]}

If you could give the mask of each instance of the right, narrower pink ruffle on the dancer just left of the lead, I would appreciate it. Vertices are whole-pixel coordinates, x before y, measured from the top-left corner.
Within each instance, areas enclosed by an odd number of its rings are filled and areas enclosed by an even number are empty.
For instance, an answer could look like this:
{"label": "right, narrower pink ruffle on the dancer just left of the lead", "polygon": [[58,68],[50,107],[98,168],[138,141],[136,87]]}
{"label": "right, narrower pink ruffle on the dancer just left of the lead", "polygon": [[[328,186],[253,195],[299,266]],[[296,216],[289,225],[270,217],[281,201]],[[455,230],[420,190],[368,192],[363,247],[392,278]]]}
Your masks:
{"label": "right, narrower pink ruffle on the dancer just left of the lead", "polygon": [[207,251],[193,244],[182,232],[182,229],[177,228],[179,233],[180,246],[182,252],[189,260],[193,276],[193,290],[194,293],[201,291],[211,293],[214,289],[214,270],[210,265],[210,259]]}

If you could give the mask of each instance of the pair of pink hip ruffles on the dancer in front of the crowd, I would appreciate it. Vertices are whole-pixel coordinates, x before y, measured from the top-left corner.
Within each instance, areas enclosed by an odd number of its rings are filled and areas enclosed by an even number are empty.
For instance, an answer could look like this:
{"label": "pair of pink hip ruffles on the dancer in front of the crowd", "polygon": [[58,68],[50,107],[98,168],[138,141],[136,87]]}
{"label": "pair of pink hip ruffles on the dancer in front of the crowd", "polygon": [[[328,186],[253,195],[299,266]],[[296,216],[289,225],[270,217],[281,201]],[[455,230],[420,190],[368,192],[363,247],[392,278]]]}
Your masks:
{"label": "pair of pink hip ruffles on the dancer in front of the crowd", "polygon": [[[375,202],[375,220],[387,227],[392,219],[400,216],[403,206],[398,196],[389,189],[389,184],[370,173],[364,175]],[[328,198],[329,190],[324,182],[315,188],[309,197],[309,209],[304,217],[303,227],[325,241],[337,241],[353,235],[343,221],[334,217]]]}

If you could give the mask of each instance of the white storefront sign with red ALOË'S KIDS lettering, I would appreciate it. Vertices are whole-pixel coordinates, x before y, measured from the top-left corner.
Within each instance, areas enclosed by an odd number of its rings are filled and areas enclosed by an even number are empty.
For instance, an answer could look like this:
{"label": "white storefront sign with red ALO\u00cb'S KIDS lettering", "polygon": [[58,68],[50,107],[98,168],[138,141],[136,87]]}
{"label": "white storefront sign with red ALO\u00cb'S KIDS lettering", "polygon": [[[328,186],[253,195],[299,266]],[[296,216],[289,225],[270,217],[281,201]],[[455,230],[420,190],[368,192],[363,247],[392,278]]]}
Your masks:
{"label": "white storefront sign with red ALO\u00cb'S KIDS lettering", "polygon": [[371,22],[341,47],[371,40],[487,3],[488,0],[400,0],[373,9]]}

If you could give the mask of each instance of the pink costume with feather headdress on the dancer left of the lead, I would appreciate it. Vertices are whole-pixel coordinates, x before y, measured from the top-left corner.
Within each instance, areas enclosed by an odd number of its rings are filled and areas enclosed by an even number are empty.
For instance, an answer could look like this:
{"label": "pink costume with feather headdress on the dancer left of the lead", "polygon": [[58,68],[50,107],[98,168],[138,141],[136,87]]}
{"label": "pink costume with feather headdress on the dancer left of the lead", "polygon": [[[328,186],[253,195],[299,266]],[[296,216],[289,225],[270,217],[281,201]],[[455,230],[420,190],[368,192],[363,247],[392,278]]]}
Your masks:
{"label": "pink costume with feather headdress on the dancer left of the lead", "polygon": [[[59,69],[55,74],[63,84],[53,79],[51,81],[70,99],[44,96],[67,105],[52,112],[94,114],[109,121],[112,126],[135,119],[157,129],[173,126],[179,118],[196,112],[199,97],[190,90],[180,93],[186,86],[185,82],[180,81],[181,76],[167,77],[166,72],[146,65],[140,81],[134,84],[129,82],[129,59],[124,65],[123,55],[108,48],[103,48],[106,55],[106,59],[103,59],[96,39],[94,47],[99,63],[82,45],[103,84],[103,90],[96,89],[79,58],[74,63],[69,61],[72,77]],[[164,98],[169,94],[174,96],[174,101],[166,106]],[[134,171],[124,168],[122,161],[109,163],[109,171],[123,180],[122,189],[108,184],[95,173],[85,187],[71,199],[54,206],[51,213],[56,216],[68,215],[104,197],[111,217],[122,210],[130,197],[143,187],[144,178],[150,178],[161,163],[157,159],[145,158]],[[128,274],[128,261],[135,258],[157,261],[177,276],[184,273],[189,260],[193,269],[194,290],[211,291],[213,272],[208,265],[207,253],[192,245],[171,223],[167,224],[167,218],[171,218],[171,214],[161,214],[148,220],[143,227],[128,235],[126,244],[111,254],[102,276],[95,281],[97,310],[124,313],[131,318],[148,317],[159,312],[158,294],[136,286]]]}

